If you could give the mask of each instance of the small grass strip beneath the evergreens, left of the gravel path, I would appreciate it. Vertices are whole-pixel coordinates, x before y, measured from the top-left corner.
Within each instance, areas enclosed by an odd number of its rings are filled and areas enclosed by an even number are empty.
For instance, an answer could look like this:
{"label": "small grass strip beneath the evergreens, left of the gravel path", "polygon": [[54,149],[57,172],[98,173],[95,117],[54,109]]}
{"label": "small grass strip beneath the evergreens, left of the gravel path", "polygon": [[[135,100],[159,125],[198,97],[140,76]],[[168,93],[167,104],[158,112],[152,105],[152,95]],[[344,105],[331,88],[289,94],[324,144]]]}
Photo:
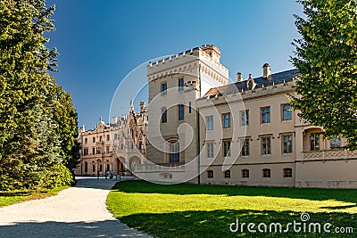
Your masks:
{"label": "small grass strip beneath the evergreens, left of the gravel path", "polygon": [[29,201],[35,199],[43,199],[46,197],[54,196],[61,190],[68,188],[69,186],[56,187],[54,189],[48,189],[36,193],[29,192],[9,192],[9,193],[0,193],[0,207],[8,206],[13,203],[21,201]]}

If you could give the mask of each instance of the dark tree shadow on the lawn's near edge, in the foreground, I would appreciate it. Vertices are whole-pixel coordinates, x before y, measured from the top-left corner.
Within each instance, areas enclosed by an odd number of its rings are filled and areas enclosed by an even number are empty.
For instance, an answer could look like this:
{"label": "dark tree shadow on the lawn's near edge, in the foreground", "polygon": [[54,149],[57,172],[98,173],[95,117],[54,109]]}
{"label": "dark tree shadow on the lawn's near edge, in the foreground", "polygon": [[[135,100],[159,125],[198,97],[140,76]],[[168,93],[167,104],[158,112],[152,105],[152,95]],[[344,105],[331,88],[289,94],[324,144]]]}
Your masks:
{"label": "dark tree shadow on the lawn's near edge, in the foreground", "polygon": [[[146,234],[157,237],[355,237],[357,233],[357,218],[353,214],[346,213],[310,213],[310,220],[306,224],[306,232],[295,233],[294,227],[289,226],[288,232],[284,233],[286,224],[294,220],[303,223],[301,214],[293,211],[275,210],[212,210],[212,211],[183,211],[165,214],[135,214],[120,217],[123,223],[130,227],[135,227]],[[239,229],[237,233],[229,230],[229,225],[236,223],[238,219]],[[245,223],[243,232],[240,227]],[[247,225],[254,223],[253,228],[256,233],[249,233]],[[262,233],[257,229],[260,223],[266,224],[268,233]],[[275,227],[272,226],[273,233],[269,232],[270,223],[280,223],[282,233],[274,233]],[[320,223],[321,233],[309,233],[310,223]],[[332,224],[329,228],[330,234],[323,232],[326,223]],[[236,228],[236,226],[232,226]],[[353,234],[336,234],[336,227],[353,227]],[[262,226],[263,229],[263,226]],[[311,226],[311,231],[313,227]]]}

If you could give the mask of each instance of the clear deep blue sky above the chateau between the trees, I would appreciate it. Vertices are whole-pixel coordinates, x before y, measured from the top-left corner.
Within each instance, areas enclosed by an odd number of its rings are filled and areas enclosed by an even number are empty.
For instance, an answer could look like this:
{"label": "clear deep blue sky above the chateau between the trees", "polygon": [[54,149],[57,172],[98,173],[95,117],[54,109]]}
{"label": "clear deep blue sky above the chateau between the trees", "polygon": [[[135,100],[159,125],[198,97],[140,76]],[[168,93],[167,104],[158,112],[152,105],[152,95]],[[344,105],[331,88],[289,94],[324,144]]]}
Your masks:
{"label": "clear deep blue sky above the chateau between the trees", "polygon": [[[291,45],[299,35],[294,0],[49,0],[55,4],[57,84],[72,94],[79,126],[108,122],[120,80],[139,64],[204,44],[220,48],[220,62],[236,79],[293,68]],[[129,98],[122,98],[128,108]],[[137,105],[136,105],[137,106]]]}

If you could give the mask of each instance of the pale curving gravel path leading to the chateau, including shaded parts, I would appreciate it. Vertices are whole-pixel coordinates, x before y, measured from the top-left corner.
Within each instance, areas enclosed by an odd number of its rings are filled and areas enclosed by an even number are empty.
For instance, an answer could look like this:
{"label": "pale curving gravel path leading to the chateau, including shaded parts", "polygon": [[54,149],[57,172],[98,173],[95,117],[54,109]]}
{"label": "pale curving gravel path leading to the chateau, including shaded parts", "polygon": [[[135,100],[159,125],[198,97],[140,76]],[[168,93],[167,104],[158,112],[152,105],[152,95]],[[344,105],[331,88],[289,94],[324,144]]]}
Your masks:
{"label": "pale curving gravel path leading to the chateau, including shaded parts", "polygon": [[46,199],[0,208],[0,237],[150,237],[112,217],[105,200],[115,180],[77,177]]}

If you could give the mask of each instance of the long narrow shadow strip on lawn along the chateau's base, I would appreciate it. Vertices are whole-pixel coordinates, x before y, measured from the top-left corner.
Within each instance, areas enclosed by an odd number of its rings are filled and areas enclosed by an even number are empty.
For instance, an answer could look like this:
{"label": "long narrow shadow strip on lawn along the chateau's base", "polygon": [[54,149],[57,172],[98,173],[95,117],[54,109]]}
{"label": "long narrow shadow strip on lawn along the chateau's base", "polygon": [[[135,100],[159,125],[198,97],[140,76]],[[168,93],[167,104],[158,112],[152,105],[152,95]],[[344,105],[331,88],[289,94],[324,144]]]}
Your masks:
{"label": "long narrow shadow strip on lawn along the chateau's base", "polygon": [[[336,200],[357,203],[356,189],[318,189],[286,187],[246,187],[223,185],[156,185],[145,181],[125,181],[113,187],[112,192],[162,194],[213,194],[228,196],[264,196],[311,201]],[[356,205],[356,204],[354,204]],[[352,205],[353,206],[353,205]]]}

